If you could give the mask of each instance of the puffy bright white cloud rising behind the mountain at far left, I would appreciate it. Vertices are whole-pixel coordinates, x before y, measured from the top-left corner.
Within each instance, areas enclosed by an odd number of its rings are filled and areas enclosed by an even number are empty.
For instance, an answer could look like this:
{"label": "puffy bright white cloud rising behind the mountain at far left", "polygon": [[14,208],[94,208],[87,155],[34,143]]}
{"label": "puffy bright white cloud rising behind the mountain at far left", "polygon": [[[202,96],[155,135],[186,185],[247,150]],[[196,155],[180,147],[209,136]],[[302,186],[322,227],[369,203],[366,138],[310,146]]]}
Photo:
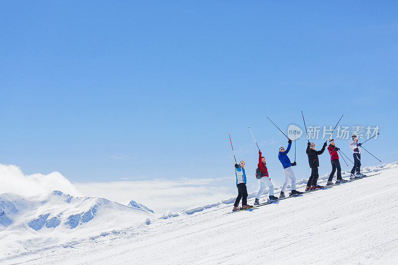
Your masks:
{"label": "puffy bright white cloud rising behind the mountain at far left", "polygon": [[73,196],[81,195],[76,187],[59,172],[52,172],[48,175],[38,173],[24,175],[17,166],[0,164],[0,194],[12,192],[23,196],[32,196],[52,190],[61,190]]}

